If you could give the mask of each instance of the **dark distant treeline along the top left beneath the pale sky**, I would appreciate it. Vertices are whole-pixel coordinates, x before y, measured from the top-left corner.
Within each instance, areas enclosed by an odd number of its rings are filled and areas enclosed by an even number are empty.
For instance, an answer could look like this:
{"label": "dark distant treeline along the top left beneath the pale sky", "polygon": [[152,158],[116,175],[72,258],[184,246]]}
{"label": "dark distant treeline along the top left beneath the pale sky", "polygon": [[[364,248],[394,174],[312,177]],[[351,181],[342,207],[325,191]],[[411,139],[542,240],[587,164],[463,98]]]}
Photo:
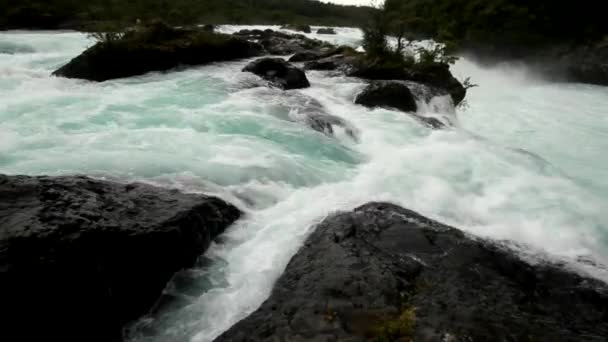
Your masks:
{"label": "dark distant treeline along the top left beneath the pale sky", "polygon": [[[78,23],[133,23],[162,19],[175,25],[306,23],[357,26],[369,7],[339,6],[315,0],[3,0],[4,27]],[[4,16],[4,17],[2,17]],[[29,23],[31,22],[31,23]]]}

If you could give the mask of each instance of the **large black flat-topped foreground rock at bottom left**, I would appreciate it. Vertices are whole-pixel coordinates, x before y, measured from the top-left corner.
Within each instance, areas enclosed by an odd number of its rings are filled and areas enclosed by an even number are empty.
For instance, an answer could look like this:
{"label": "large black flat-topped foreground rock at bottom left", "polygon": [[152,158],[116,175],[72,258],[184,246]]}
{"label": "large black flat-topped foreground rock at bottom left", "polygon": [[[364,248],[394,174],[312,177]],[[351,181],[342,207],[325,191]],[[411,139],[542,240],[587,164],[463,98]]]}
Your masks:
{"label": "large black flat-topped foreground rock at bottom left", "polygon": [[0,175],[0,340],[119,340],[239,216],[149,185]]}

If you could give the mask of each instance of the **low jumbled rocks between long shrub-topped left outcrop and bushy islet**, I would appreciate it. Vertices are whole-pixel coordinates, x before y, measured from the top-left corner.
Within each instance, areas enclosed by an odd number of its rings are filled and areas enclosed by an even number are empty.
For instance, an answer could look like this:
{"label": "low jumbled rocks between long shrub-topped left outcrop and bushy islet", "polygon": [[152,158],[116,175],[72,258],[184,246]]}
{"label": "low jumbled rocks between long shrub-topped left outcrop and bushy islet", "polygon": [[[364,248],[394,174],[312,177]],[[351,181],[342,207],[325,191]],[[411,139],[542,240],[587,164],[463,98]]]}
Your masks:
{"label": "low jumbled rocks between long shrub-topped left outcrop and bushy islet", "polygon": [[234,34],[244,39],[258,42],[271,55],[292,55],[308,50],[330,49],[333,45],[310,39],[302,34],[287,34],[273,30],[241,30]]}

